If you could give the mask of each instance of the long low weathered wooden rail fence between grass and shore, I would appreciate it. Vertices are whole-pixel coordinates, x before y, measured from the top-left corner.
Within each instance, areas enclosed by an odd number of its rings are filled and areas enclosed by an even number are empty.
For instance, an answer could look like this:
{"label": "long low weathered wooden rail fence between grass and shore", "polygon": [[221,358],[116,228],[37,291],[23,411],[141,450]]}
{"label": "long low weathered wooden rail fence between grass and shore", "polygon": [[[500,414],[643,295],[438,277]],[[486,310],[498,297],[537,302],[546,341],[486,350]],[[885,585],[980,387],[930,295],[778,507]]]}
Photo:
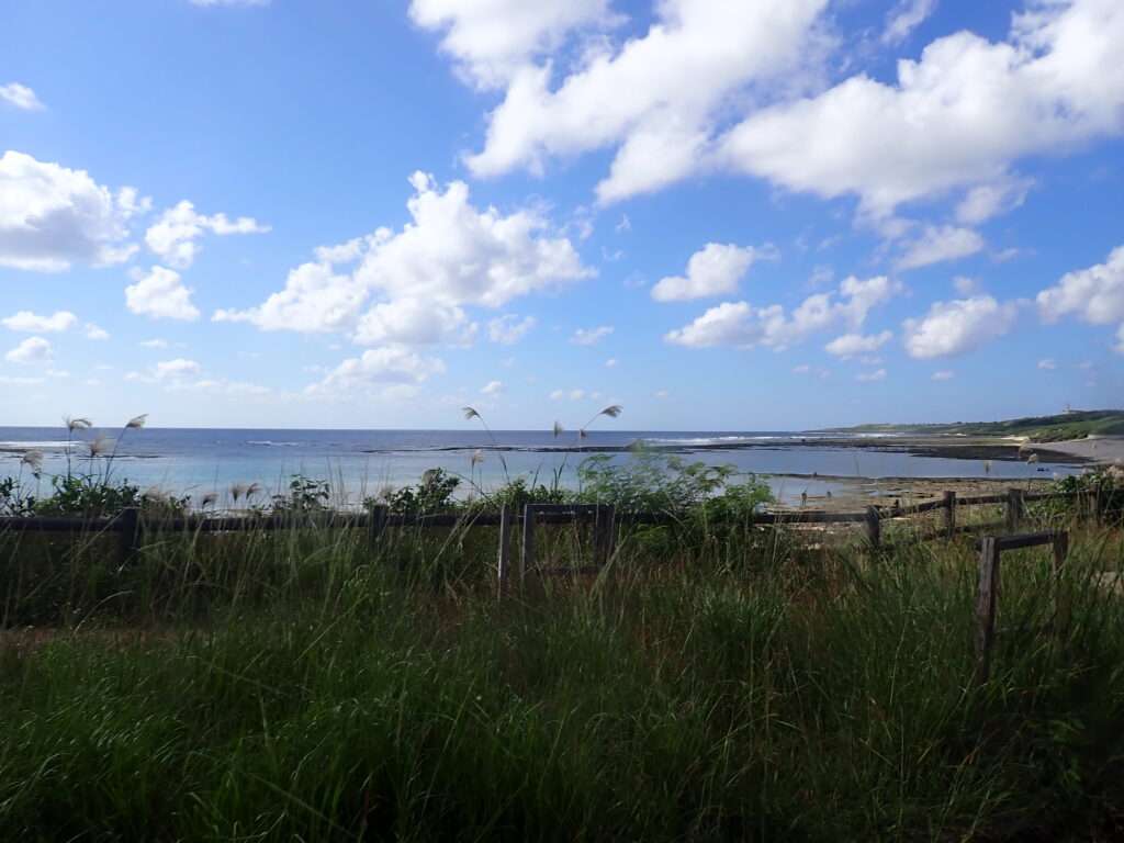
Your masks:
{"label": "long low weathered wooden rail fence between grass and shore", "polygon": [[[1088,501],[1088,513],[1091,518],[1100,520],[1106,514],[1107,491],[1090,489],[1076,492],[1045,492],[1027,495],[1022,489],[1008,489],[1005,495],[982,497],[958,497],[955,492],[946,491],[940,500],[914,504],[899,507],[868,506],[862,513],[823,513],[818,510],[794,510],[777,513],[755,513],[753,524],[861,524],[865,532],[868,544],[880,549],[882,522],[912,515],[921,515],[943,510],[943,524],[933,532],[917,536],[915,541],[933,538],[950,538],[961,533],[976,533],[989,529],[1014,529],[1024,517],[1025,506],[1032,501],[1080,499]],[[981,505],[1004,505],[1004,519],[986,524],[959,525],[957,514],[961,507]],[[682,523],[678,516],[667,513],[628,513],[617,515],[611,507],[606,514],[605,505],[590,504],[528,504],[519,515],[505,507],[500,513],[437,513],[432,515],[391,514],[384,505],[372,506],[366,513],[312,513],[264,516],[210,517],[192,516],[187,518],[142,518],[136,509],[125,509],[112,518],[75,518],[75,517],[0,517],[0,534],[3,533],[117,533],[118,552],[121,562],[132,559],[142,546],[144,533],[233,533],[244,531],[273,531],[303,527],[318,528],[352,528],[366,531],[370,538],[377,541],[389,527],[484,527],[499,526],[501,529],[501,551],[510,547],[509,529],[516,524],[523,525],[524,570],[529,569],[529,552],[532,546],[533,524],[571,524],[575,519],[596,522],[595,564],[604,564],[611,554],[614,527],[634,527],[638,525],[674,526]],[[532,526],[527,526],[527,525]],[[505,560],[507,556],[505,556]]]}

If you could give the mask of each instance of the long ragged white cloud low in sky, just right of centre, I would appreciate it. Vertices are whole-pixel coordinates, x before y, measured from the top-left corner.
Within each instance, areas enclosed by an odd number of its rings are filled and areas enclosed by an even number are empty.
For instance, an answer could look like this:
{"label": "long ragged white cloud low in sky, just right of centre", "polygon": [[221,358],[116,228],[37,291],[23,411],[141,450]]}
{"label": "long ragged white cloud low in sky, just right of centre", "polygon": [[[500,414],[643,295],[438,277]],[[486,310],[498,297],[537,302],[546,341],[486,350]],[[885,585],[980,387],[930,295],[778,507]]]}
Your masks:
{"label": "long ragged white cloud low in sky, just right of centre", "polygon": [[[807,339],[813,334],[843,327],[858,332],[867,314],[903,292],[897,281],[885,275],[868,279],[847,278],[837,291],[809,296],[791,316],[780,305],[754,308],[746,301],[723,302],[707,310],[690,325],[671,330],[664,342],[691,347],[728,345],[751,348],[763,345],[780,351]],[[836,293],[841,300],[835,300]]]}

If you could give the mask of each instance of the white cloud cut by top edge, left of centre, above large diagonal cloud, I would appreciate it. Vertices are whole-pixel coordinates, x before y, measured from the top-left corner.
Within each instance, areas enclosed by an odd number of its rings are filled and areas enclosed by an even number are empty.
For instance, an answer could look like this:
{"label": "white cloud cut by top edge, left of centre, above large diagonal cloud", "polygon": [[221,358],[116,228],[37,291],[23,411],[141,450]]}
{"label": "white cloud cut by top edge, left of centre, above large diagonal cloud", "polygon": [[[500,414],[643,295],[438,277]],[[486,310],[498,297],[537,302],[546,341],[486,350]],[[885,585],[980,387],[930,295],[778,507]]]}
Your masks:
{"label": "white cloud cut by top edge, left of centre, above large diagonal cloud", "polygon": [[610,26],[608,0],[414,0],[410,18],[443,30],[441,47],[466,81],[507,82],[532,57],[560,46],[579,27]]}

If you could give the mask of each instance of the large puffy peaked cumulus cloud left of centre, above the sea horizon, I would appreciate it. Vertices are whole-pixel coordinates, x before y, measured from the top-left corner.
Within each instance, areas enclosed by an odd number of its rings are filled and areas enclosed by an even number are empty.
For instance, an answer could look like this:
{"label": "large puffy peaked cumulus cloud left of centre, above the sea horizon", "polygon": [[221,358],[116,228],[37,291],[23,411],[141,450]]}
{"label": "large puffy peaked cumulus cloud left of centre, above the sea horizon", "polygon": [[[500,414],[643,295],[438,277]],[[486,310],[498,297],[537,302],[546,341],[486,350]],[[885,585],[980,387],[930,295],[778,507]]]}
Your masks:
{"label": "large puffy peaked cumulus cloud left of centre, above the sea horizon", "polygon": [[[413,223],[400,232],[380,228],[319,248],[316,261],[292,270],[284,289],[261,306],[219,310],[215,318],[245,320],[264,330],[355,332],[356,342],[408,344],[417,337],[428,344],[435,332],[414,323],[418,308],[439,312],[442,330],[436,333],[447,335],[465,324],[465,306],[502,307],[595,274],[570,239],[532,210],[507,216],[495,208],[480,210],[470,203],[464,182],[452,182],[442,192],[425,173],[415,173],[410,183]],[[381,301],[364,315],[372,297]]]}

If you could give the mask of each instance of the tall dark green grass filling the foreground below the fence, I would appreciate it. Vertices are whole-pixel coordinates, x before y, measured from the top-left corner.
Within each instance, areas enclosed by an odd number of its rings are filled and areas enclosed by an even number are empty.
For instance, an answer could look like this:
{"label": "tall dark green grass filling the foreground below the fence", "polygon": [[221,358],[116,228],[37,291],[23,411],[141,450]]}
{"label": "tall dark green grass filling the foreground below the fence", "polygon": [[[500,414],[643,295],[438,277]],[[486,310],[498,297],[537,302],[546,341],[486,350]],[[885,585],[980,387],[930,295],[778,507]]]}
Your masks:
{"label": "tall dark green grass filling the foreground below the fence", "polygon": [[[1113,840],[1117,531],[976,555],[788,533],[629,538],[497,600],[491,531],[6,542],[6,840]],[[543,558],[582,561],[559,529]],[[27,623],[48,625],[21,628]]]}

